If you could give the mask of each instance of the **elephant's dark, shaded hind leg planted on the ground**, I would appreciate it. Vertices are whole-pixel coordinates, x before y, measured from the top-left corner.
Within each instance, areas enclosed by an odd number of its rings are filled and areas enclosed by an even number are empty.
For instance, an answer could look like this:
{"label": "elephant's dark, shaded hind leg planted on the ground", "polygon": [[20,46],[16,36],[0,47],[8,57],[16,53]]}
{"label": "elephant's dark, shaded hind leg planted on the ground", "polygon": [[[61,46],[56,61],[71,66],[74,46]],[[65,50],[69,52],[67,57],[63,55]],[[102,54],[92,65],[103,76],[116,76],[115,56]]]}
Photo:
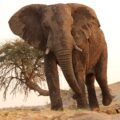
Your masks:
{"label": "elephant's dark, shaded hind leg planted on the ground", "polygon": [[86,76],[86,86],[87,86],[87,91],[88,91],[88,101],[91,110],[99,110],[99,105],[96,97],[96,92],[95,92],[95,86],[94,86],[94,81],[95,81],[95,75],[94,74],[88,74]]}

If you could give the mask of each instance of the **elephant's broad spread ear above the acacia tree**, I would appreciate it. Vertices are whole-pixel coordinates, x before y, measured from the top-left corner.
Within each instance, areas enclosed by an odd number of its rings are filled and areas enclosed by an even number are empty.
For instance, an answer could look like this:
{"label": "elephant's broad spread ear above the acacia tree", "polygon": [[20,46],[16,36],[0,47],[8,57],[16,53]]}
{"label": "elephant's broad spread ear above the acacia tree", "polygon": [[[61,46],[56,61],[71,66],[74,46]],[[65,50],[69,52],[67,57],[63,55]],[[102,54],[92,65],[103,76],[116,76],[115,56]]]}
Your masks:
{"label": "elephant's broad spread ear above the acacia tree", "polygon": [[12,32],[27,41],[42,40],[42,9],[45,5],[32,4],[21,8],[9,20]]}

